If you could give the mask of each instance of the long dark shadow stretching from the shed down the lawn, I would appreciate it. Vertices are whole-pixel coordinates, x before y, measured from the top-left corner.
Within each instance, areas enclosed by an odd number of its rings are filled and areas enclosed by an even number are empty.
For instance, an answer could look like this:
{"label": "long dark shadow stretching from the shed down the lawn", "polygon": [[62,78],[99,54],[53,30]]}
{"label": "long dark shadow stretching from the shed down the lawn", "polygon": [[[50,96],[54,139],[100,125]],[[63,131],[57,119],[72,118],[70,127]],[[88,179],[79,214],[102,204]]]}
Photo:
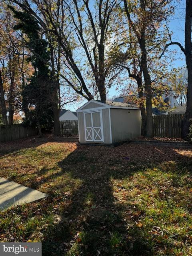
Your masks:
{"label": "long dark shadow stretching from the shed down the lawn", "polygon": [[[160,154],[153,148],[154,152]],[[154,161],[156,163],[146,160],[141,166],[134,167],[135,163],[131,159],[126,161],[126,153],[123,153],[123,147],[121,149],[118,159],[112,154],[115,150],[118,155],[118,148],[79,146],[58,163],[60,172],[47,177],[45,182],[70,172],[72,179],[81,180],[81,184],[73,190],[67,203],[60,208],[61,220],[50,236],[44,238],[43,255],[50,251],[53,252],[52,255],[69,256],[153,255],[154,243],[149,234],[146,234],[139,224],[137,226],[134,223],[140,223],[139,218],[145,216],[145,212],[137,214],[140,209],[135,209],[132,204],[128,205],[126,209],[136,213],[128,226],[129,220],[124,219],[122,214],[125,204],[114,197],[112,179],[130,178],[148,166],[164,164],[164,161],[160,158]],[[162,148],[161,150],[163,151]],[[105,151],[107,153],[103,155]],[[174,158],[171,157],[173,155]],[[183,156],[177,156],[170,148],[170,162],[180,161],[182,158]]]}

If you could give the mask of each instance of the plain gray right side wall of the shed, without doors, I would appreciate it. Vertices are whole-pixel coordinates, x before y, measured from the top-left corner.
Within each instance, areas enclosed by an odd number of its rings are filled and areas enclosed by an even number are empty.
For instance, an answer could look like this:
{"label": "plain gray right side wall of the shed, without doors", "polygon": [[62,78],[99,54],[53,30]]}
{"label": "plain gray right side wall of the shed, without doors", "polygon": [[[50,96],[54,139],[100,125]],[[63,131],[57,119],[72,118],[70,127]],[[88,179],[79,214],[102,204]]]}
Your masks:
{"label": "plain gray right side wall of the shed, without doors", "polygon": [[141,136],[140,110],[111,108],[112,143]]}

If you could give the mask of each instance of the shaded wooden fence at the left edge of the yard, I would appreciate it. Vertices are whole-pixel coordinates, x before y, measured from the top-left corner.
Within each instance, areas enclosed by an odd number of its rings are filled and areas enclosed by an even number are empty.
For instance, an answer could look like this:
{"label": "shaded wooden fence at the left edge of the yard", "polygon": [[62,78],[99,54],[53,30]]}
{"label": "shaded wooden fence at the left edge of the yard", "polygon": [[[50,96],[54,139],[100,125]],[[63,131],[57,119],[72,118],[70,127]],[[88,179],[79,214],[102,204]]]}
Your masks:
{"label": "shaded wooden fence at the left edge of the yard", "polygon": [[38,129],[32,126],[27,127],[22,124],[0,126],[0,142],[18,140],[37,134]]}

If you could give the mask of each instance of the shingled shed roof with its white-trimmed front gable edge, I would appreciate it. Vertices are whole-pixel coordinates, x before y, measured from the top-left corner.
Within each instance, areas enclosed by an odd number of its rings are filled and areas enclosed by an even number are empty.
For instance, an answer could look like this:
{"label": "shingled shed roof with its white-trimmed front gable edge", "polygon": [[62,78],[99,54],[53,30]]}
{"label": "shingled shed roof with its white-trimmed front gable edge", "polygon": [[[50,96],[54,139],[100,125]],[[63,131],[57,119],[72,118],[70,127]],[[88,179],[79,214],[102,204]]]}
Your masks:
{"label": "shingled shed roof with its white-trimmed front gable edge", "polygon": [[[99,107],[99,108],[124,108],[124,109],[137,109],[137,110],[139,109],[134,104],[115,102],[115,101],[110,101],[110,100],[105,100],[105,101],[102,101],[102,100],[90,100],[90,101],[86,102],[83,106],[78,108],[78,110],[76,110],[76,112],[84,111],[83,108],[85,106],[87,106],[88,104],[90,104],[90,102],[98,103],[99,105],[101,105],[101,107]],[[86,111],[87,110],[89,110],[89,109],[87,108]]]}

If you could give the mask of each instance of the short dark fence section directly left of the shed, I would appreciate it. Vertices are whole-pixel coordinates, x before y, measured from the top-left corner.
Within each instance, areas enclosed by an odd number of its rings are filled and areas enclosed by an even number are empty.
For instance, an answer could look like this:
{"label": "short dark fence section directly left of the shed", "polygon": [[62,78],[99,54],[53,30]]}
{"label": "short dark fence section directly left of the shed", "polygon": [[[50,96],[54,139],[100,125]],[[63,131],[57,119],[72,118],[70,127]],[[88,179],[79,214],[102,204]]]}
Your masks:
{"label": "short dark fence section directly left of the shed", "polygon": [[78,135],[78,120],[60,121],[60,133]]}

